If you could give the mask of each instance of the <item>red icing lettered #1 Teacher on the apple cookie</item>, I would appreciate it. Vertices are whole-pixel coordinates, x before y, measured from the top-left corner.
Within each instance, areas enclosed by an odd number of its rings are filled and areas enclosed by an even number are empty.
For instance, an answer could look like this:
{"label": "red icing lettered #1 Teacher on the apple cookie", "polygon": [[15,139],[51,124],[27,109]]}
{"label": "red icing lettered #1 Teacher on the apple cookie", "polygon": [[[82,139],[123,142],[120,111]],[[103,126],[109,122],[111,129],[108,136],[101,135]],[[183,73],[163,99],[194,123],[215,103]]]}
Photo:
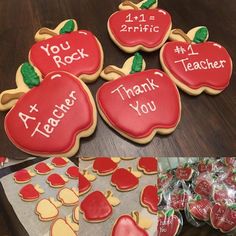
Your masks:
{"label": "red icing lettered #1 Teacher on the apple cookie", "polygon": [[161,56],[170,73],[192,89],[209,87],[223,90],[229,84],[232,61],[219,44],[170,42],[163,47]]}

